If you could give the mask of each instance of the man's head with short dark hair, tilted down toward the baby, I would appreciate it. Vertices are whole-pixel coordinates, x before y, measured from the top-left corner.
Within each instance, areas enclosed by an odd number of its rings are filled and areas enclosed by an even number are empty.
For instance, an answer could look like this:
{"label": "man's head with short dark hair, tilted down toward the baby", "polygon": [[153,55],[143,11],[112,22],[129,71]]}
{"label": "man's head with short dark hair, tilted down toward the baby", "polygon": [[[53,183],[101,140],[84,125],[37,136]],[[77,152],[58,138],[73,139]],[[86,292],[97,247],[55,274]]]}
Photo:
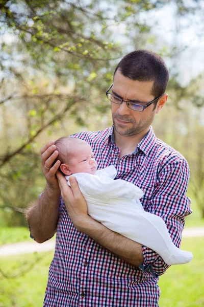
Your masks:
{"label": "man's head with short dark hair, tilted down toward the baby", "polygon": [[122,58],[115,69],[112,94],[142,105],[163,95],[142,112],[130,109],[126,102],[112,102],[114,128],[119,135],[134,136],[149,128],[167,101],[168,79],[163,59],[153,52],[137,50]]}

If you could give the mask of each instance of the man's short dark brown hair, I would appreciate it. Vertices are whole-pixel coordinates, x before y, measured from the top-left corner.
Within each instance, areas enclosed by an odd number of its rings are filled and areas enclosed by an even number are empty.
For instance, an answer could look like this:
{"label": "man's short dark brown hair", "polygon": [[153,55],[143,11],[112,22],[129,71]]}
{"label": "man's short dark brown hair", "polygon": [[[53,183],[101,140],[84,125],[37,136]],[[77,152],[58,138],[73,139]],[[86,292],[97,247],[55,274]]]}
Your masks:
{"label": "man's short dark brown hair", "polygon": [[124,77],[138,81],[154,81],[151,94],[156,98],[164,94],[169,81],[169,72],[164,60],[148,50],[136,50],[126,54],[118,63]]}

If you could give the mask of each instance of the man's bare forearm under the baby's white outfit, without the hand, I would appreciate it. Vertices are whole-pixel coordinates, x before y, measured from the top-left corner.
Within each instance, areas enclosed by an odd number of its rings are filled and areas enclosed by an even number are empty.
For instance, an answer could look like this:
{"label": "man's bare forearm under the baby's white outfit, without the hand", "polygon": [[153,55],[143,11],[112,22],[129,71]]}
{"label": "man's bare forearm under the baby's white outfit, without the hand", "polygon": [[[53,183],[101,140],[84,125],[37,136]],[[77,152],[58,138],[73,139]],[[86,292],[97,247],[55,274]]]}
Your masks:
{"label": "man's bare forearm under the baby's white outfit, without the hand", "polygon": [[75,227],[130,264],[136,267],[142,264],[141,244],[108,229],[88,215],[78,221]]}

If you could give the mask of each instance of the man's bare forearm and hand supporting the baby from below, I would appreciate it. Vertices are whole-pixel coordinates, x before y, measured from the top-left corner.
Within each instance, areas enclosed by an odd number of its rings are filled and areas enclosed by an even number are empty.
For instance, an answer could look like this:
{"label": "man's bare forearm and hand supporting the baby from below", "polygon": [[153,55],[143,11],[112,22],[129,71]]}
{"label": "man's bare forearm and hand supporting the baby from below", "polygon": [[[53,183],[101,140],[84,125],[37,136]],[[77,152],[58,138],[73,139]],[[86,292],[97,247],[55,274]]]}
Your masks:
{"label": "man's bare forearm and hand supporting the baby from below", "polygon": [[69,178],[71,188],[60,172],[57,172],[57,177],[73,225],[112,253],[138,267],[143,262],[142,246],[108,229],[88,215],[86,201],[74,177]]}

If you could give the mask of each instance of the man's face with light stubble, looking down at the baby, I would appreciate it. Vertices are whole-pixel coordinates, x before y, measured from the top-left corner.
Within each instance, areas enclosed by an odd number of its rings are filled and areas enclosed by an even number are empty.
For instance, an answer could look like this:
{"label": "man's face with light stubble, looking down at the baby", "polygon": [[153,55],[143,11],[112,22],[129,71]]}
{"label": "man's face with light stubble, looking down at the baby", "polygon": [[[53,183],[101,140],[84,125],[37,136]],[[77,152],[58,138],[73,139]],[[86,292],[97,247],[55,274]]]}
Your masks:
{"label": "man's face with light stubble, looking down at the baby", "polygon": [[[118,70],[114,77],[112,94],[125,101],[146,104],[155,97],[151,94],[154,81],[138,81],[124,77]],[[127,107],[126,102],[115,104],[111,102],[114,129],[121,136],[134,136],[145,131],[155,118],[157,109],[151,104],[143,112],[133,111]],[[154,111],[153,111],[154,110]]]}

